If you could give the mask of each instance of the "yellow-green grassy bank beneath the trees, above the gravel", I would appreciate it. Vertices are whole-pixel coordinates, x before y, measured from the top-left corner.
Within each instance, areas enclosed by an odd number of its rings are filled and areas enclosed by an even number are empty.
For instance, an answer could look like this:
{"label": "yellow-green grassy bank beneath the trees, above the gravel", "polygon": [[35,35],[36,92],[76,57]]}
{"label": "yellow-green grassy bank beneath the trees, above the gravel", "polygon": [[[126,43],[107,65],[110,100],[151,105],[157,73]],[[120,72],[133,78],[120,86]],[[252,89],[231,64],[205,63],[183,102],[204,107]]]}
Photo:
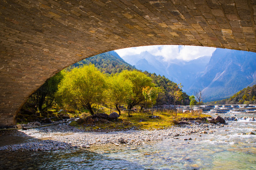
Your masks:
{"label": "yellow-green grassy bank beneath the trees, above the gravel", "polygon": [[86,130],[123,130],[123,129],[164,129],[175,125],[182,119],[208,117],[209,115],[199,115],[191,113],[154,112],[154,118],[150,118],[150,112],[130,112],[132,117],[128,117],[128,111],[122,111],[117,120],[107,119],[86,119],[89,114],[84,114],[84,118],[77,122],[72,122],[72,126],[85,128]]}

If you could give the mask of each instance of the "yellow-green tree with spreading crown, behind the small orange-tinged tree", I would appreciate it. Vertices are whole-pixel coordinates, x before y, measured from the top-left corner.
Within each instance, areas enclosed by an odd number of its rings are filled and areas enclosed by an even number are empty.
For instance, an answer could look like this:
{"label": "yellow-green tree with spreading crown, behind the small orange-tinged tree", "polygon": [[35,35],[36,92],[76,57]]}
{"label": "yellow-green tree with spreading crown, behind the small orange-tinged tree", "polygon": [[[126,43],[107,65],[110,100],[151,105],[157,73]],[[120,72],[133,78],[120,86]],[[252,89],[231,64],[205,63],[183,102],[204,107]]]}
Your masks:
{"label": "yellow-green tree with spreading crown, behind the small orange-tinged tree", "polygon": [[128,108],[132,109],[133,106],[140,104],[145,100],[145,97],[142,94],[143,87],[152,87],[154,84],[152,83],[152,79],[146,76],[144,73],[137,70],[124,70],[120,73],[120,76],[123,76],[125,79],[128,79],[133,84],[133,96],[130,96]]}

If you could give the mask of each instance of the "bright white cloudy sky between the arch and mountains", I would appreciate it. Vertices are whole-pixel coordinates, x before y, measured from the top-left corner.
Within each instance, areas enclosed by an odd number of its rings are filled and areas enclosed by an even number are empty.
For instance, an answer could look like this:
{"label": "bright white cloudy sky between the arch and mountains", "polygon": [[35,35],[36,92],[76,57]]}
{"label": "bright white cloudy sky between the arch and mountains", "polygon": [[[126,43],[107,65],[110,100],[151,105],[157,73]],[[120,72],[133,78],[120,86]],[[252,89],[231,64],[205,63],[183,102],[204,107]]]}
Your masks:
{"label": "bright white cloudy sky between the arch and mountains", "polygon": [[185,45],[152,45],[132,47],[126,49],[115,50],[121,58],[125,56],[131,56],[140,54],[144,51],[148,51],[154,56],[160,56],[163,61],[171,62],[172,60],[190,61],[204,56],[212,56],[212,53],[216,50],[213,47],[201,47],[201,46],[185,46]]}

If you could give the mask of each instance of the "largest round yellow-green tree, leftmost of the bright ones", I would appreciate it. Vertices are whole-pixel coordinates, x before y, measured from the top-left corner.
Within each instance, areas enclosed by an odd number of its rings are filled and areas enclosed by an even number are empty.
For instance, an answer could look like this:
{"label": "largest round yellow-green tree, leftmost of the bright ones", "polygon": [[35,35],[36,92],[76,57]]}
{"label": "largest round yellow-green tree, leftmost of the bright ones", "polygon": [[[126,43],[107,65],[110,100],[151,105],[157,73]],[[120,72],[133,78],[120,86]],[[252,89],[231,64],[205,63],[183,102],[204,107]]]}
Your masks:
{"label": "largest round yellow-green tree, leftmost of the bright ones", "polygon": [[86,65],[66,72],[58,86],[57,95],[65,104],[86,108],[94,115],[92,104],[104,98],[106,87],[105,75],[94,65]]}

